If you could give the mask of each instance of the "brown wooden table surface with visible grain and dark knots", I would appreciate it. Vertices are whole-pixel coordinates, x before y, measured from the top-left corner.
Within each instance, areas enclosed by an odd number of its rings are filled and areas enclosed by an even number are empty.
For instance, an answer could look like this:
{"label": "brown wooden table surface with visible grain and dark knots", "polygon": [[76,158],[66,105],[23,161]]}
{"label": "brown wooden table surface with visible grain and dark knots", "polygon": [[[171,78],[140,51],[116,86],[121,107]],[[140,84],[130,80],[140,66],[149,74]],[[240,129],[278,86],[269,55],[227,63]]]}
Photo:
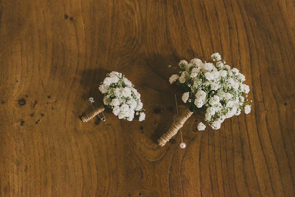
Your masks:
{"label": "brown wooden table surface with visible grain and dark knots", "polygon": [[[288,0],[0,1],[0,196],[295,196],[294,21]],[[183,93],[167,66],[214,52],[245,74],[252,112],[205,131],[195,113],[187,148],[159,147]],[[145,121],[81,121],[110,71]]]}

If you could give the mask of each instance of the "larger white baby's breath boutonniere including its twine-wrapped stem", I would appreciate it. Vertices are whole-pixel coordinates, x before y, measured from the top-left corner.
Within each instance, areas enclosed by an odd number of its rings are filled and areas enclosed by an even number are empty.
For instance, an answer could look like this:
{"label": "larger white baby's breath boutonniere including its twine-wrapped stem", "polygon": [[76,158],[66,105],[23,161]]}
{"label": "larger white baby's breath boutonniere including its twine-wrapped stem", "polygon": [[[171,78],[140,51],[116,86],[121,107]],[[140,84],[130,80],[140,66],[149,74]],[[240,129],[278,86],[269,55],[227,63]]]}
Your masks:
{"label": "larger white baby's breath boutonniere including its twine-wrapped stem", "polygon": [[189,107],[173,122],[167,133],[158,139],[160,146],[165,145],[193,112],[200,108],[206,109],[206,123],[200,122],[198,130],[205,130],[206,124],[219,129],[226,118],[238,116],[241,111],[250,113],[251,105],[248,103],[252,100],[246,99],[250,89],[243,84],[245,76],[236,68],[230,69],[224,60],[220,61],[219,53],[214,53],[211,57],[217,61],[215,65],[200,59],[192,59],[190,63],[182,60],[178,64],[183,70],[179,72],[180,76],[175,74],[170,77],[171,84],[175,83],[185,89],[182,100],[188,102]]}

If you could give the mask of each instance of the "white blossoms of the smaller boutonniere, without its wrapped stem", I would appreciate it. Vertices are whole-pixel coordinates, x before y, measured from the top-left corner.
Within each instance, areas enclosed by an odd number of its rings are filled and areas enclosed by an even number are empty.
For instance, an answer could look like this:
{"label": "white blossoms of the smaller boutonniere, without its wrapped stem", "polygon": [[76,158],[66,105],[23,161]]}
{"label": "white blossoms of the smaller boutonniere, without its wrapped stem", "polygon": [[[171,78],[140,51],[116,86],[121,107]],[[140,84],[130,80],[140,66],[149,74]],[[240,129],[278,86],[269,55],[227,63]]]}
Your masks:
{"label": "white blossoms of the smaller boutonniere, without its wrapped stem", "polygon": [[135,114],[139,115],[139,121],[145,119],[140,94],[122,73],[113,71],[107,74],[99,90],[104,94],[104,105],[112,108],[119,119],[132,121]]}

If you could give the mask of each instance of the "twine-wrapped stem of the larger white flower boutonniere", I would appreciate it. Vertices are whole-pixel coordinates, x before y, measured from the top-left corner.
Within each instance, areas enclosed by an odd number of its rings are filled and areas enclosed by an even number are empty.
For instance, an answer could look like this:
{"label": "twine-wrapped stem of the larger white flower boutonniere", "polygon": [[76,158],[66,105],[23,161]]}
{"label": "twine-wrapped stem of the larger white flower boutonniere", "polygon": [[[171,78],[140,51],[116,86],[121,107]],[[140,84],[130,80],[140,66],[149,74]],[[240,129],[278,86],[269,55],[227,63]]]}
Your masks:
{"label": "twine-wrapped stem of the larger white flower boutonniere", "polygon": [[183,127],[185,121],[191,117],[193,112],[191,112],[188,108],[185,108],[181,114],[171,125],[167,133],[164,133],[159,139],[158,144],[159,146],[164,146],[167,141],[169,141],[173,136],[176,135],[178,130]]}

